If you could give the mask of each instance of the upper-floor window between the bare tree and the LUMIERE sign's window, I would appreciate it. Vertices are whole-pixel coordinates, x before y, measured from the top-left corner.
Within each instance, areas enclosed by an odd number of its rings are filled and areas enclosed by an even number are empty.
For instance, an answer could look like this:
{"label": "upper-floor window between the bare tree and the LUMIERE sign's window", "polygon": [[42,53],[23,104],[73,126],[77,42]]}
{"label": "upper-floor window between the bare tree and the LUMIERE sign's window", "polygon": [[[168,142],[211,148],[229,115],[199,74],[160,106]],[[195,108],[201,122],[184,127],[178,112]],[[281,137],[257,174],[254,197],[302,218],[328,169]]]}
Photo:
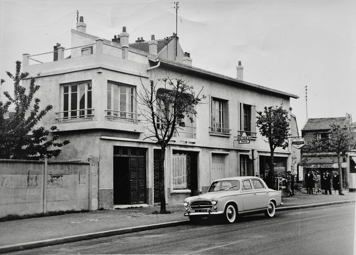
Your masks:
{"label": "upper-floor window between the bare tree and the LUMIERE sign's window", "polygon": [[228,101],[217,98],[211,100],[211,127],[214,133],[230,134],[228,125]]}

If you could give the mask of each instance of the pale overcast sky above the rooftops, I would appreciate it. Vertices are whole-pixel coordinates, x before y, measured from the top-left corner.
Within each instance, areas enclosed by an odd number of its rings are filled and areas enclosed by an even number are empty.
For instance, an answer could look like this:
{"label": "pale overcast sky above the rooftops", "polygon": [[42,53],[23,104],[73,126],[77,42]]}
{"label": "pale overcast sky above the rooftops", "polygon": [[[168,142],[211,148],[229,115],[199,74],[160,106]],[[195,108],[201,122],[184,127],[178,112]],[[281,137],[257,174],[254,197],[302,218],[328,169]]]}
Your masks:
{"label": "pale overcast sky above the rooftops", "polygon": [[[0,0],[2,92],[13,90],[5,71],[14,73],[23,53],[71,47],[77,10],[86,33],[108,40],[123,26],[130,43],[175,33],[169,0]],[[307,117],[348,113],[356,122],[356,1],[181,0],[177,21],[193,66],[235,78],[241,61],[244,80],[298,95],[290,104],[299,132]]]}

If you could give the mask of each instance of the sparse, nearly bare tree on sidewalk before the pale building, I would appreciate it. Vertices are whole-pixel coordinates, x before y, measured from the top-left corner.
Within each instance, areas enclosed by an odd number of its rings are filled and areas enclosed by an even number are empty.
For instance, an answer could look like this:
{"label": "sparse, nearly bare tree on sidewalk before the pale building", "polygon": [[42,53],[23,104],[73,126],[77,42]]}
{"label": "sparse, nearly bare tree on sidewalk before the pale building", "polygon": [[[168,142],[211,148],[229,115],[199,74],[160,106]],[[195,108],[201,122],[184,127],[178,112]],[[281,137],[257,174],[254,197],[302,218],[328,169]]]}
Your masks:
{"label": "sparse, nearly bare tree on sidewalk before the pale building", "polygon": [[[146,128],[151,133],[145,139],[153,139],[160,146],[158,160],[160,213],[167,213],[164,192],[165,151],[174,133],[179,132],[185,125],[181,120],[185,116],[196,116],[195,106],[205,96],[201,95],[202,89],[196,94],[187,81],[179,78],[150,80],[149,86],[142,82],[142,88],[137,100],[140,112],[148,124]],[[190,121],[193,122],[193,119],[190,118]]]}

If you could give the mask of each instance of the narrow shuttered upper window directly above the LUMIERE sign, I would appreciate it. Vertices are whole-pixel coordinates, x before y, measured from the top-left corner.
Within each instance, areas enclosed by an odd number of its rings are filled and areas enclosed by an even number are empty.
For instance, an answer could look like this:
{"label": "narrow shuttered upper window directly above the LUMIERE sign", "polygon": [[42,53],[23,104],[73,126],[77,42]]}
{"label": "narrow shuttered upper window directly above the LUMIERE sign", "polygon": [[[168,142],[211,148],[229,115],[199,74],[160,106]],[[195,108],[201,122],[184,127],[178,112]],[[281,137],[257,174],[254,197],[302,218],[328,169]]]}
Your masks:
{"label": "narrow shuttered upper window directly above the LUMIERE sign", "polygon": [[255,112],[254,105],[240,103],[240,134],[256,136]]}

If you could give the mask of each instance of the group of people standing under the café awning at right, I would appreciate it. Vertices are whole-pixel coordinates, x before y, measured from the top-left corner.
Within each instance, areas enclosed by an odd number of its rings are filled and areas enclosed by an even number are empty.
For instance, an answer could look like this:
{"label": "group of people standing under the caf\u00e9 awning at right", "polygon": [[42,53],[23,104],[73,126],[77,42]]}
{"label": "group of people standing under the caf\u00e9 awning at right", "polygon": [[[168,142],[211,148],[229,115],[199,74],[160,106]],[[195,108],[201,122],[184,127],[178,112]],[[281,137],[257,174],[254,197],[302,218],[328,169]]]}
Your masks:
{"label": "group of people standing under the caf\u00e9 awning at right", "polygon": [[[308,194],[314,194],[313,190],[315,189],[315,194],[325,194],[331,193],[331,183],[333,183],[333,189],[339,192],[340,183],[339,175],[337,172],[334,172],[333,177],[327,171],[322,172],[322,176],[319,175],[318,171],[308,171],[304,176],[305,185],[307,188]],[[324,191],[323,191],[324,190]]]}

